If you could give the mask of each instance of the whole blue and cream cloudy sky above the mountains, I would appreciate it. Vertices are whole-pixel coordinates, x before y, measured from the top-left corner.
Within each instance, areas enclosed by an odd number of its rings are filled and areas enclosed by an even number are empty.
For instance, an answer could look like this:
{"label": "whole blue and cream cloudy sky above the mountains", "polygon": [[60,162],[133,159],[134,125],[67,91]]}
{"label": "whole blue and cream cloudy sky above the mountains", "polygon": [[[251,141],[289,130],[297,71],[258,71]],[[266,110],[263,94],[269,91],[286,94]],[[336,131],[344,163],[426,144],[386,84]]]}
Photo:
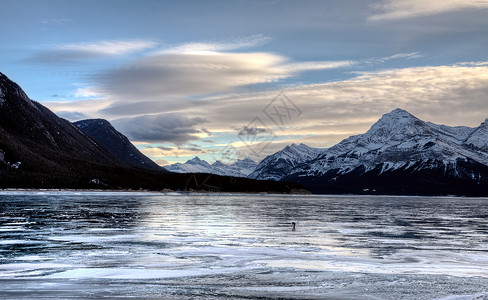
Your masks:
{"label": "whole blue and cream cloudy sky above the mountains", "polygon": [[488,0],[0,0],[0,72],[160,165],[488,118]]}

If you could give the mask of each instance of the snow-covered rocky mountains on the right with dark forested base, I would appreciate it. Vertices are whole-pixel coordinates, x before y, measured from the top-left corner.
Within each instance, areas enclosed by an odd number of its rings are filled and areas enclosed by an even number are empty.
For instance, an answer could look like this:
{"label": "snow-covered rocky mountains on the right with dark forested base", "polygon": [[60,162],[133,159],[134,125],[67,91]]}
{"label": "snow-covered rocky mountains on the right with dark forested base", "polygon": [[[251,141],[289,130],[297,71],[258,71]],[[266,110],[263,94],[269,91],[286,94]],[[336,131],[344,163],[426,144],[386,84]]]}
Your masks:
{"label": "snow-covered rocky mountains on the right with dark forested base", "polygon": [[[193,164],[214,172],[199,159],[178,168]],[[286,146],[247,177],[296,182],[316,193],[488,195],[488,119],[476,128],[450,127],[395,109],[333,147]]]}

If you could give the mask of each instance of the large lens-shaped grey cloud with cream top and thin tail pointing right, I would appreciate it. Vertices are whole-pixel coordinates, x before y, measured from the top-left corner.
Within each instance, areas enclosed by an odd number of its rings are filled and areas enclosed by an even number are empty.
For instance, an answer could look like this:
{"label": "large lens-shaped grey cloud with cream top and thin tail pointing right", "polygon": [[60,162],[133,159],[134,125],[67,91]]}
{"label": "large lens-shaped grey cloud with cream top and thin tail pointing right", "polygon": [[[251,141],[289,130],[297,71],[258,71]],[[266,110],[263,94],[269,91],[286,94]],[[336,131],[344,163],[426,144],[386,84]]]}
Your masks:
{"label": "large lens-shaped grey cloud with cream top and thin tail pointing right", "polygon": [[[205,52],[151,55],[94,75],[95,93],[114,99],[104,113],[127,115],[177,111],[204,105],[202,98],[255,84],[278,82],[298,72],[344,68],[352,61],[290,63],[273,53]],[[116,99],[116,100],[115,100]],[[189,101],[188,99],[200,99]]]}

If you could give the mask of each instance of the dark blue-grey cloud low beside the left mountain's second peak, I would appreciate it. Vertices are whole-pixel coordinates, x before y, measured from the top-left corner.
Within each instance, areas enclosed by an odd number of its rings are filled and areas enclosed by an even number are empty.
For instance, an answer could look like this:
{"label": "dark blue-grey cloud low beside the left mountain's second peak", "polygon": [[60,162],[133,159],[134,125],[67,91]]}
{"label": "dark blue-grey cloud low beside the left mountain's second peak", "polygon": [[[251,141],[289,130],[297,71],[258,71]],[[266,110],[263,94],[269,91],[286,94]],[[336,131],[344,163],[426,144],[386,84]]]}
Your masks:
{"label": "dark blue-grey cloud low beside the left mountain's second peak", "polygon": [[181,145],[199,137],[194,126],[206,123],[204,118],[186,117],[180,114],[144,115],[123,118],[111,123],[130,140],[149,143],[170,142]]}

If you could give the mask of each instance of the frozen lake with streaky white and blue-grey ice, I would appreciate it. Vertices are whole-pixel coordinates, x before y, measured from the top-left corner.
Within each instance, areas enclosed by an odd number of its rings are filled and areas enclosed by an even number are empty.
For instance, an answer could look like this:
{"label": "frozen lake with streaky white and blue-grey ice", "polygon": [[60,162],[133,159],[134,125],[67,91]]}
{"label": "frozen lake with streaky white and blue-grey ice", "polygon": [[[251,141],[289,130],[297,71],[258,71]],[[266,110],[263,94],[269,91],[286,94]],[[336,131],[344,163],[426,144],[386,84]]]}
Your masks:
{"label": "frozen lake with streaky white and blue-grey ice", "polygon": [[102,297],[488,299],[488,199],[0,192],[0,298]]}

